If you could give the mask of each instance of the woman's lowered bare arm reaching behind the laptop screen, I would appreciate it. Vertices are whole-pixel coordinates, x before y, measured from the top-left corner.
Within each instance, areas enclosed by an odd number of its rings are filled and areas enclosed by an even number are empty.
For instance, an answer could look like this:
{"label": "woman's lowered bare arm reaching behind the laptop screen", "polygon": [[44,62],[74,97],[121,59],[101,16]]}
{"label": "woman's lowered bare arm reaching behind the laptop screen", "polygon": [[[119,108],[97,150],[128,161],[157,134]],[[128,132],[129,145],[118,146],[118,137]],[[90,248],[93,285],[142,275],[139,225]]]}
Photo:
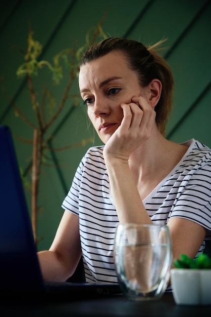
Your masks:
{"label": "woman's lowered bare arm reaching behind the laptop screen", "polygon": [[66,281],[81,257],[79,217],[66,210],[51,247],[37,255],[44,281]]}

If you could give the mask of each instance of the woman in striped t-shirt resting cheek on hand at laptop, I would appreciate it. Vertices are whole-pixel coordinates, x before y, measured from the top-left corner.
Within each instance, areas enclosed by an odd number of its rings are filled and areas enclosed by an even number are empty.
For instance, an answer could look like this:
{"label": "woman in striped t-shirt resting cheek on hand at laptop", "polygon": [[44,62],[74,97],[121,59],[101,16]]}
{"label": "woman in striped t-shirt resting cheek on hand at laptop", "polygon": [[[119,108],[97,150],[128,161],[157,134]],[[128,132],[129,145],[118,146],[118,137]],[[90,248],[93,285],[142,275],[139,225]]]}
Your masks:
{"label": "woman in striped t-shirt resting cheek on hand at laptop", "polygon": [[117,283],[119,223],[167,224],[174,258],[203,252],[211,230],[211,151],[194,139],[165,138],[173,76],[156,53],[160,44],[108,38],[81,60],[81,97],[105,145],[83,157],[54,242],[38,253],[45,280],[67,280],[82,254],[86,282]]}

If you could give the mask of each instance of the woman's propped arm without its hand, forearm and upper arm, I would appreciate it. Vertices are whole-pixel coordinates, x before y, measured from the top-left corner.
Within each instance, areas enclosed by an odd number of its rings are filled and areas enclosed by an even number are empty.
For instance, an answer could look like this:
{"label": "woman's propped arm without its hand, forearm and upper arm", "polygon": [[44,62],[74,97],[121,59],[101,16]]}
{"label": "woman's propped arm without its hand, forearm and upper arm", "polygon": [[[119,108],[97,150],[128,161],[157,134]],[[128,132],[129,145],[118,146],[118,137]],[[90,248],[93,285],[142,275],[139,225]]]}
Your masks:
{"label": "woman's propped arm without its hand, forearm and upper arm", "polygon": [[[115,192],[115,204],[119,209],[121,223],[152,223],[142,204],[137,187],[127,162],[111,164],[109,177],[112,191]],[[114,170],[114,172],[113,172]],[[113,194],[114,195],[114,194]],[[194,221],[183,218],[171,218],[168,222],[173,241],[173,258],[179,259],[181,254],[194,258],[206,234],[206,229]]]}

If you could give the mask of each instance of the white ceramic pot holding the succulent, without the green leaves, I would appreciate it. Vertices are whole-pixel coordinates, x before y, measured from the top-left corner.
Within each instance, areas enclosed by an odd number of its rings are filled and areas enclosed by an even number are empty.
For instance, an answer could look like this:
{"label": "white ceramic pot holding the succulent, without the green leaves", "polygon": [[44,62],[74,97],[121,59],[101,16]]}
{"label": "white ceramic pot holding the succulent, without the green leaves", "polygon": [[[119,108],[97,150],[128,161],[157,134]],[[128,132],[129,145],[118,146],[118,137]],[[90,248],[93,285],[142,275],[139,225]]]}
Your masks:
{"label": "white ceramic pot holding the succulent, without the green leaves", "polygon": [[211,305],[211,269],[171,269],[173,296],[178,305]]}

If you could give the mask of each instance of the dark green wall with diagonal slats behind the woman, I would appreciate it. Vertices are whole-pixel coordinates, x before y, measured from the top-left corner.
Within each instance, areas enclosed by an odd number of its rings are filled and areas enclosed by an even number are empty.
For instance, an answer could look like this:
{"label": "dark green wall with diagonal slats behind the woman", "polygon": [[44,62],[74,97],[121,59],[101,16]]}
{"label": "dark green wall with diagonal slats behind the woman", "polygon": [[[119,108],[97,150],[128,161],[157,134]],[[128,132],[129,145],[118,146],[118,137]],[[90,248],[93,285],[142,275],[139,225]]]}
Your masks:
{"label": "dark green wall with diagonal slats behind the woman", "polygon": [[[175,77],[174,109],[167,127],[167,137],[176,142],[195,138],[211,147],[211,3],[205,0],[3,0],[0,12],[0,76],[14,104],[32,122],[34,113],[25,78],[16,70],[24,62],[29,22],[34,38],[43,45],[40,59],[52,60],[59,51],[77,43],[81,47],[88,29],[105,15],[102,29],[107,36],[137,39],[146,45],[168,38],[163,56]],[[68,71],[59,87],[52,85],[44,69],[35,78],[37,99],[48,86],[59,104],[68,81]],[[77,80],[70,95],[78,94]],[[19,164],[30,181],[32,129],[17,117],[11,102],[0,91],[0,124],[9,125]],[[38,214],[38,250],[46,249],[55,235],[63,210],[61,203],[71,185],[75,170],[88,147],[101,144],[88,125],[86,108],[76,107],[70,96],[63,112],[48,132],[54,134],[52,147],[71,147],[48,151],[42,167]],[[84,142],[94,137],[94,142]],[[1,150],[1,147],[0,147]],[[31,194],[26,189],[31,210]]]}

